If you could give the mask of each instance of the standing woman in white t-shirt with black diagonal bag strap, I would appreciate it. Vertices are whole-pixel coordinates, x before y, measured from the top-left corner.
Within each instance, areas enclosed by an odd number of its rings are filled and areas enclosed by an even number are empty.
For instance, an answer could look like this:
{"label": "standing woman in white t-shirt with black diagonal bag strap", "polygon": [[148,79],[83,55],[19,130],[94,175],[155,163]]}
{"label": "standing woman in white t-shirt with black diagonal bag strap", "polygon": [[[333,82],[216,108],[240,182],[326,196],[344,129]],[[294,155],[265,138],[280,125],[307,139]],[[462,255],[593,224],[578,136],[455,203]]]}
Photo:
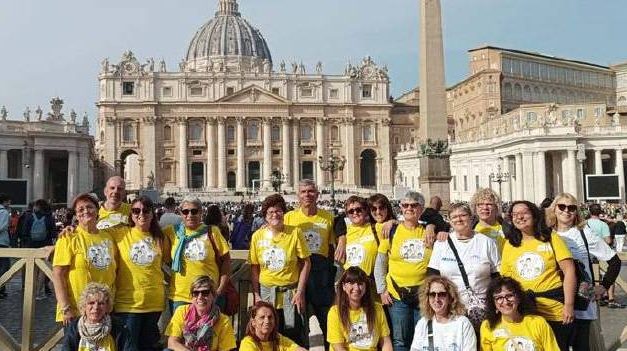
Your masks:
{"label": "standing woman in white t-shirt with black diagonal bag strap", "polygon": [[[470,207],[464,203],[450,206],[449,218],[453,232],[446,241],[437,241],[429,261],[429,273],[445,276],[460,290],[468,317],[478,331],[484,319],[485,300],[490,278],[500,265],[496,241],[471,228]],[[457,257],[466,272],[464,280]]]}

